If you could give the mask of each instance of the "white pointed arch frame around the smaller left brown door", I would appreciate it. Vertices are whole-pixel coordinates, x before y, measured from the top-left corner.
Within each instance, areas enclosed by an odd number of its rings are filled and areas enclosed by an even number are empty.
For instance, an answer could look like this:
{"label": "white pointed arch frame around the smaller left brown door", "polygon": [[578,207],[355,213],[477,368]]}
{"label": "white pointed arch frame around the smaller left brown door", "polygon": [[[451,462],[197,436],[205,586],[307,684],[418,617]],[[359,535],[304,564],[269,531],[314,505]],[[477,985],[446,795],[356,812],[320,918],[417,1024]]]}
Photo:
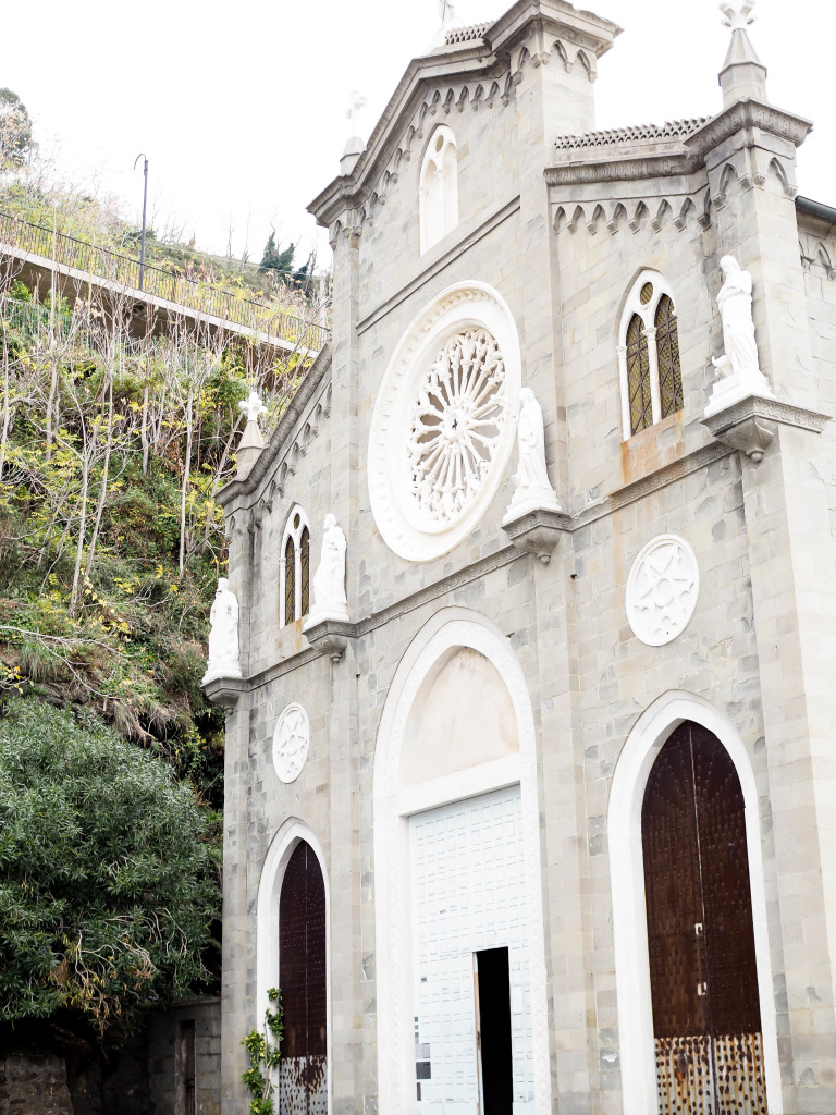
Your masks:
{"label": "white pointed arch frame around the smaller left brown door", "polygon": [[259,879],[255,920],[255,1018],[253,1026],[262,1028],[268,1009],[268,990],[279,987],[279,902],[284,872],[297,845],[304,841],[317,856],[325,888],[325,1026],[328,1057],[328,1112],[332,1111],[331,1056],[331,888],[325,856],[317,835],[298,817],[288,817],[270,842]]}

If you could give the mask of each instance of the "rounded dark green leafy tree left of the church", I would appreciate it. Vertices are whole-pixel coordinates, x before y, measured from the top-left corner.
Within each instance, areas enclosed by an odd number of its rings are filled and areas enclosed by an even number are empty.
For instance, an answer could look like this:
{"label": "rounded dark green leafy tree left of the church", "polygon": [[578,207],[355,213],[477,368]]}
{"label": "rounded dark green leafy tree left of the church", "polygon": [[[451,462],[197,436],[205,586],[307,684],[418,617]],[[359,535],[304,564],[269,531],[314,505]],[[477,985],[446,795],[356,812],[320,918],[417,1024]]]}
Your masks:
{"label": "rounded dark green leafy tree left of the church", "polygon": [[168,766],[12,698],[0,719],[0,1020],[105,1034],[210,977],[217,818]]}

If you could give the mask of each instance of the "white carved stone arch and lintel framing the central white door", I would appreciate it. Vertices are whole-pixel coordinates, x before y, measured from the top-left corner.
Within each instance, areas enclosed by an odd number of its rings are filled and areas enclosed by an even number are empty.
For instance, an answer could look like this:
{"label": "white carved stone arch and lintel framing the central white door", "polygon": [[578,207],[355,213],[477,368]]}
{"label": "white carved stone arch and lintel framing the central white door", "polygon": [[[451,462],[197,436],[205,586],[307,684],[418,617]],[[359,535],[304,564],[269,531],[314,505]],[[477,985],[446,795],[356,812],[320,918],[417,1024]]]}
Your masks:
{"label": "white carved stone arch and lintel framing the central white door", "polygon": [[[516,715],[519,752],[401,789],[401,748],[412,702],[439,659],[459,648],[478,651],[505,681]],[[415,1098],[408,818],[412,813],[517,784],[521,787],[526,873],[534,1111],[536,1115],[551,1115],[536,736],[531,697],[523,668],[499,629],[469,609],[443,609],[414,638],[395,672],[375,753],[378,1109],[387,1115],[406,1115]]]}

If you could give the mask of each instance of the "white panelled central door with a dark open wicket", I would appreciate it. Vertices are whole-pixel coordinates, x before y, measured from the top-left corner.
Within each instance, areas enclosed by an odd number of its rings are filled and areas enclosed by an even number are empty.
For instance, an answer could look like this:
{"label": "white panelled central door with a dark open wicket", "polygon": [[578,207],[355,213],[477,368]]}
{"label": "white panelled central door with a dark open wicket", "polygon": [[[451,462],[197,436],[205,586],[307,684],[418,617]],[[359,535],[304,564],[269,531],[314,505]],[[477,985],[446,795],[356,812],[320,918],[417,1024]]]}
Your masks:
{"label": "white panelled central door with a dark open wicket", "polygon": [[474,952],[508,949],[514,1115],[534,1109],[519,787],[410,817],[416,1097],[479,1115]]}

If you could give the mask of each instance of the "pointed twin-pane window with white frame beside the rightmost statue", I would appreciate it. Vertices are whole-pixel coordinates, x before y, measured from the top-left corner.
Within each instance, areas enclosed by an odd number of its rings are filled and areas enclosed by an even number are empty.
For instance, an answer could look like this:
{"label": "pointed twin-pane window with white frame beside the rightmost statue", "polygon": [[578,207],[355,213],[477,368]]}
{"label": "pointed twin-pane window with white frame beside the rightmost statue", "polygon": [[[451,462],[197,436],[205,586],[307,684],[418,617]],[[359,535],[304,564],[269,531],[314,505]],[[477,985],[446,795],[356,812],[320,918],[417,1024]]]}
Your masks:
{"label": "pointed twin-pane window with white frame beside the rightmost statue", "polygon": [[655,271],[633,283],[619,336],[623,437],[682,409],[682,370],[673,293]]}

